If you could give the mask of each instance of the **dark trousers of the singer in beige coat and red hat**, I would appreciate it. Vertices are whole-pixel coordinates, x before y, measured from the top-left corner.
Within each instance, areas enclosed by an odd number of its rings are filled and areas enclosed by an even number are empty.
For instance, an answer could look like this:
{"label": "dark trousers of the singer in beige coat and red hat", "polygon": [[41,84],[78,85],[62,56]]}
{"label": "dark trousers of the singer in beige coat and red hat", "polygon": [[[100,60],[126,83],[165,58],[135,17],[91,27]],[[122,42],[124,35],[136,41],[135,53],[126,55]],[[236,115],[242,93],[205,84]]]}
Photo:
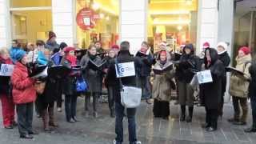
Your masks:
{"label": "dark trousers of the singer in beige coat and red hat", "polygon": [[[234,107],[234,119],[241,122],[246,122],[248,114],[247,98],[232,97]],[[240,106],[242,108],[242,116]]]}

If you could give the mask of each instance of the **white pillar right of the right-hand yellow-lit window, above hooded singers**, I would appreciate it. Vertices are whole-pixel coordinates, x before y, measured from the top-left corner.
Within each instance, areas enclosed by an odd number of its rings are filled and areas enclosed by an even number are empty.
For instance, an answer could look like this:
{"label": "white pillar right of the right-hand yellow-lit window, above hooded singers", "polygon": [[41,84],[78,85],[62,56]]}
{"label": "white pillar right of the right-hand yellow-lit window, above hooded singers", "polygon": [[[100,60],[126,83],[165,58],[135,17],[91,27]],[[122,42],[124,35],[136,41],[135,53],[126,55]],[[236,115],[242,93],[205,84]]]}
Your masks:
{"label": "white pillar right of the right-hand yellow-lit window, above hooded singers", "polygon": [[218,0],[198,0],[197,54],[202,44],[209,42],[215,47],[218,41]]}

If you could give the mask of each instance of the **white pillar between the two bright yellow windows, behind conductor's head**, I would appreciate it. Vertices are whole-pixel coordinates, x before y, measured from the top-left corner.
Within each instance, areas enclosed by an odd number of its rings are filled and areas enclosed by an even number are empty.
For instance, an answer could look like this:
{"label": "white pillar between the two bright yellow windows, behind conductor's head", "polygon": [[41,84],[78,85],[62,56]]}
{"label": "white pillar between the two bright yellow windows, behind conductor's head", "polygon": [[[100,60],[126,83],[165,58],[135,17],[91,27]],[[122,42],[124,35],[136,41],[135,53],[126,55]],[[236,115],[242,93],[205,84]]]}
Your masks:
{"label": "white pillar between the two bright yellow windows, behind conductor's head", "polygon": [[130,52],[135,54],[146,40],[148,0],[119,0],[120,42],[130,42]]}

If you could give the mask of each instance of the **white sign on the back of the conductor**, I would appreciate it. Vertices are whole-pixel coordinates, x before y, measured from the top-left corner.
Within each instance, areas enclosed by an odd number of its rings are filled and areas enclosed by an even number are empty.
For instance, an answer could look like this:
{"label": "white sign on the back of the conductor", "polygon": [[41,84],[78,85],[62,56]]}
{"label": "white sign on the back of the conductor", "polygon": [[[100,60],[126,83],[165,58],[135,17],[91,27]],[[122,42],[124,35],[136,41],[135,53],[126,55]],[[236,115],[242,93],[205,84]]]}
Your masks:
{"label": "white sign on the back of the conductor", "polygon": [[134,62],[118,63],[118,66],[115,65],[115,72],[117,78],[135,76]]}

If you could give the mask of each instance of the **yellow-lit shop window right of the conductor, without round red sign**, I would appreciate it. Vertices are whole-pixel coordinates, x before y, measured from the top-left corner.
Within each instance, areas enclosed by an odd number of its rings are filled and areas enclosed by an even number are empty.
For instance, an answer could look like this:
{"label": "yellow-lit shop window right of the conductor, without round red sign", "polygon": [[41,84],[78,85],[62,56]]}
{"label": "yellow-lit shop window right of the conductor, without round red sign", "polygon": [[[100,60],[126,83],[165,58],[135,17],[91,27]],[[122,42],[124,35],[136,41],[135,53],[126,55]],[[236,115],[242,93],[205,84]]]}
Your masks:
{"label": "yellow-lit shop window right of the conductor, without round red sign", "polygon": [[196,43],[198,0],[150,0],[148,42],[154,52],[160,42],[178,51],[186,42]]}

